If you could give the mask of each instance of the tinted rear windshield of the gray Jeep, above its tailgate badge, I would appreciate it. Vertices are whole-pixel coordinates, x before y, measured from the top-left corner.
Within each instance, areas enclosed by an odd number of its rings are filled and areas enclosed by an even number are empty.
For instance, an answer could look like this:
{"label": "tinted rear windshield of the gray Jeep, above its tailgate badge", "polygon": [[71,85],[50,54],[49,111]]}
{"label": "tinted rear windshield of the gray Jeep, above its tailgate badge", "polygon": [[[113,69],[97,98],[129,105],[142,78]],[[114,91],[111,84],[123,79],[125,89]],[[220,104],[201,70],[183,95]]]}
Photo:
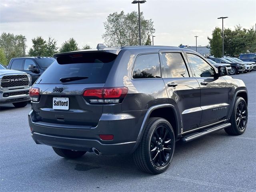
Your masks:
{"label": "tinted rear windshield of the gray Jeep, above its tailgate badge", "polygon": [[[88,52],[59,56],[38,78],[40,84],[90,84],[105,83],[116,54]],[[61,78],[86,77],[61,82]]]}

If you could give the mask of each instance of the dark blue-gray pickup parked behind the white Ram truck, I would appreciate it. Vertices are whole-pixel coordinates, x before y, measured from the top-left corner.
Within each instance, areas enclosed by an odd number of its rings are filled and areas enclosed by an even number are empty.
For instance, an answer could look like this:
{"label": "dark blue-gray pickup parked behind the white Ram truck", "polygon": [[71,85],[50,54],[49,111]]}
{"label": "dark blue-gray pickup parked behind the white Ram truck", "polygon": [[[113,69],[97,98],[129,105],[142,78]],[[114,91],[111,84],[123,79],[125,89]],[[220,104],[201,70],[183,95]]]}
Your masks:
{"label": "dark blue-gray pickup parked behind the white Ram truck", "polygon": [[54,58],[40,56],[12,58],[9,62],[8,69],[19,70],[30,74],[32,84],[34,84],[44,70],[54,61]]}

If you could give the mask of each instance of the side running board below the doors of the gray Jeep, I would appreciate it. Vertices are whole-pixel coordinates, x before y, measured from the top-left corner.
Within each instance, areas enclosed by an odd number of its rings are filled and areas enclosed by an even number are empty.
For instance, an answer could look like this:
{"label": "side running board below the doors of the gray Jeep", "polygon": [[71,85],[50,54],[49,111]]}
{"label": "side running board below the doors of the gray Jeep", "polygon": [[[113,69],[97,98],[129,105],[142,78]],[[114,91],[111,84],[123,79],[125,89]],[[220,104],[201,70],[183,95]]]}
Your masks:
{"label": "side running board below the doors of the gray Jeep", "polygon": [[225,123],[225,124],[221,124],[221,125],[218,125],[218,126],[215,126],[215,127],[203,129],[200,132],[195,132],[195,133],[192,133],[192,134],[188,134],[188,135],[184,136],[183,138],[181,138],[181,140],[182,140],[182,142],[187,143],[187,142],[190,142],[194,139],[198,139],[202,136],[205,136],[207,134],[222,130],[224,128],[228,128],[230,126],[231,126],[230,123]]}

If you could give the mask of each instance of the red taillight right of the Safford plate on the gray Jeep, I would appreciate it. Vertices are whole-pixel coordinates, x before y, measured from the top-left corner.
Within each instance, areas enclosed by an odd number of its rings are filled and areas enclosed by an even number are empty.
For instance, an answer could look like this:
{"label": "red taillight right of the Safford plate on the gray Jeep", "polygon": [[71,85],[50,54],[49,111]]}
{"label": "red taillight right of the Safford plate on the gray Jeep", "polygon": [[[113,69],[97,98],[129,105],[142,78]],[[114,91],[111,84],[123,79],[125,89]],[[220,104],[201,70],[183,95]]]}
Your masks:
{"label": "red taillight right of the Safford plate on the gray Jeep", "polygon": [[128,93],[127,87],[92,88],[84,91],[83,96],[90,103],[120,103]]}

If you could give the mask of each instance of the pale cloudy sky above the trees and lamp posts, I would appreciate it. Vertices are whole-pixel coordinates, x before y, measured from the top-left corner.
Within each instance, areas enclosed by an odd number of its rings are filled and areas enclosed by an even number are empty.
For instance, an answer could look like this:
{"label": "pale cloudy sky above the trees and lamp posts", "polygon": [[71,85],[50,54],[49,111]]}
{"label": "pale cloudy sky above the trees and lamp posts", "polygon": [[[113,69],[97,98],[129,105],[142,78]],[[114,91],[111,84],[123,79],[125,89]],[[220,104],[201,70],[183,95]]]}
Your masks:
{"label": "pale cloudy sky above the trees and lamp posts", "polygon": [[[0,0],[0,33],[22,34],[27,38],[26,51],[32,38],[49,36],[58,46],[73,37],[78,46],[96,48],[103,43],[103,22],[113,12],[138,11],[132,0]],[[147,0],[140,10],[152,19],[156,32],[154,45],[180,44],[206,46],[216,26],[234,29],[256,24],[256,0]]]}

